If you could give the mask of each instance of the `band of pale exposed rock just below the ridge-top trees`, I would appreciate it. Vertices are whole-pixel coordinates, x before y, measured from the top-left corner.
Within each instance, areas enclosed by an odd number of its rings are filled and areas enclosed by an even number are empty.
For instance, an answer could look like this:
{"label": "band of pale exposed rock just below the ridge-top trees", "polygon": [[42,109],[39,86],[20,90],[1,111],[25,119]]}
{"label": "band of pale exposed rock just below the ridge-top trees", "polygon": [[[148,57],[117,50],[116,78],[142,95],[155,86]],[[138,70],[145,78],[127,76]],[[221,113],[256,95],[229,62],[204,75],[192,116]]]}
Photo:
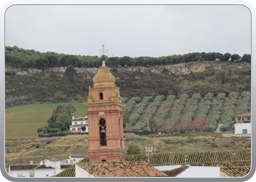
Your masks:
{"label": "band of pale exposed rock just below the ridge-top trees", "polygon": [[[212,70],[219,70],[222,68],[226,68],[229,65],[236,65],[238,68],[243,68],[244,63],[229,63],[229,62],[219,62],[219,61],[197,61],[191,63],[179,63],[176,65],[167,65],[167,66],[152,66],[152,67],[124,67],[124,68],[116,68],[118,72],[124,71],[139,71],[142,73],[169,73],[175,74],[176,76],[179,75],[187,75],[191,74],[192,72],[201,72],[201,71],[212,71]],[[112,69],[112,68],[110,68]],[[75,68],[78,74],[81,73],[91,73],[97,74],[99,68]],[[42,72],[37,68],[10,68],[5,67],[5,71],[9,73],[14,73],[16,75],[25,75],[25,74],[37,74]],[[56,74],[64,74],[66,71],[66,67],[59,67],[59,68],[48,68],[48,71],[56,72]]]}

